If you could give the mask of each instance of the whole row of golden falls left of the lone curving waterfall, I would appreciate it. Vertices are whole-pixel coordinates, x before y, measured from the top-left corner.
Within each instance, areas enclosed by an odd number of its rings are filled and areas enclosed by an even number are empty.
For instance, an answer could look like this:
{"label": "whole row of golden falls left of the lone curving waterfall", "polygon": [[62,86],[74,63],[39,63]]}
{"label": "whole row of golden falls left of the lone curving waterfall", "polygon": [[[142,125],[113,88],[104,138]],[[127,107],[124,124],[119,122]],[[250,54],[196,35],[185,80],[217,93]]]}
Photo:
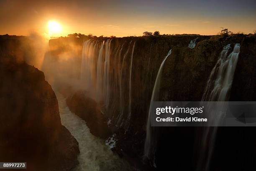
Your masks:
{"label": "whole row of golden falls left of the lone curving waterfall", "polygon": [[[132,99],[132,65],[135,42],[118,45],[112,39],[90,39],[84,42],[82,50],[81,83],[91,98],[104,104],[104,112],[111,111],[116,126],[129,126]],[[113,45],[112,45],[113,44]],[[132,46],[132,48],[130,48]],[[126,79],[128,78],[128,79]],[[118,91],[119,90],[119,91]],[[115,96],[114,96],[115,95]],[[128,97],[128,98],[126,98]],[[127,99],[127,100],[126,100]],[[115,103],[120,111],[116,111]]]}

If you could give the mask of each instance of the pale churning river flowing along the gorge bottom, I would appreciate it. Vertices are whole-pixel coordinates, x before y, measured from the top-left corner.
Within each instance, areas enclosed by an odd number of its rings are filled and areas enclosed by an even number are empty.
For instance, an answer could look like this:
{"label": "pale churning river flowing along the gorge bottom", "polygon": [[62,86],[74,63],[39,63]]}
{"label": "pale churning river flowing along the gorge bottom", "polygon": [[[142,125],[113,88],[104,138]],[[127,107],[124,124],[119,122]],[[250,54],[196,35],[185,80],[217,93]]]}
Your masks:
{"label": "pale churning river flowing along the gorge bottom", "polygon": [[93,136],[84,120],[69,111],[66,100],[56,93],[59,102],[61,124],[64,125],[79,143],[79,165],[74,171],[129,171],[127,161],[119,158],[106,145],[105,141]]}

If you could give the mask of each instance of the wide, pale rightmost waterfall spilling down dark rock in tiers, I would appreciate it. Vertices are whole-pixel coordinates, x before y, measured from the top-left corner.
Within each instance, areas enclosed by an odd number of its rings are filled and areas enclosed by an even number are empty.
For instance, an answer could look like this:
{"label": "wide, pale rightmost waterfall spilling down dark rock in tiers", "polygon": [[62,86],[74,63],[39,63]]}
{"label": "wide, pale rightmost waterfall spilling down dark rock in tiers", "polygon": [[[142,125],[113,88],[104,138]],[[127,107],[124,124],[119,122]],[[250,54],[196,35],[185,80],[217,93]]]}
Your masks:
{"label": "wide, pale rightmost waterfall spilling down dark rock in tiers", "polygon": [[[219,59],[210,73],[207,81],[202,101],[228,101],[230,88],[233,82],[236,64],[240,52],[240,44],[235,44],[233,51],[231,45],[226,45],[220,53]],[[226,110],[226,106],[222,107],[222,111]],[[217,118],[215,121],[220,122],[225,113],[216,113],[214,108],[209,108],[212,117]],[[198,170],[209,170],[212,151],[215,143],[215,136],[218,127],[205,127],[202,137],[202,146],[208,146],[208,151],[202,149]],[[205,162],[204,162],[205,161]]]}

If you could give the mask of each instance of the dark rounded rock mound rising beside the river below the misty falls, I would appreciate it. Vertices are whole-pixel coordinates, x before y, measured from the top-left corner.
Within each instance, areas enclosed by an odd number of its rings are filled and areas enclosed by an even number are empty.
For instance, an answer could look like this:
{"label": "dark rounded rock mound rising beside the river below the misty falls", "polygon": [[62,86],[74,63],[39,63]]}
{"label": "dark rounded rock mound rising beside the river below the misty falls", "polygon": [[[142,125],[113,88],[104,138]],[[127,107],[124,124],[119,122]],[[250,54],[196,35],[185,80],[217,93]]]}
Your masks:
{"label": "dark rounded rock mound rising beside the river below the misty falls", "polygon": [[83,91],[77,91],[67,98],[70,111],[86,121],[90,133],[100,138],[111,135],[105,116],[100,111],[99,105]]}

